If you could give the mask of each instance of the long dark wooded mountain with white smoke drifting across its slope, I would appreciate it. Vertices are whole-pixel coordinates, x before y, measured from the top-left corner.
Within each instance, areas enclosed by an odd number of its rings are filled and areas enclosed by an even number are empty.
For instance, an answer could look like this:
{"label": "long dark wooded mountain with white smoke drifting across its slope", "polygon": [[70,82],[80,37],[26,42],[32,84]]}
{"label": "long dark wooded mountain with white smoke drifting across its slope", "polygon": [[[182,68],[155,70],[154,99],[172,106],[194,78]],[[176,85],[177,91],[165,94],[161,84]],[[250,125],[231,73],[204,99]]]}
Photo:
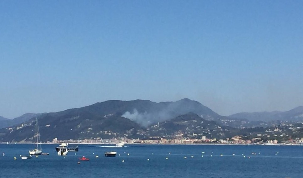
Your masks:
{"label": "long dark wooded mountain with white smoke drifting across its slope", "polygon": [[[189,99],[176,102],[152,102],[150,100],[108,100],[89,106],[71,108],[54,113],[42,113],[38,118],[44,141],[58,139],[90,139],[130,137],[146,138],[149,125],[194,112],[213,119],[221,117],[208,107]],[[33,139],[35,117],[22,125],[0,129],[0,141]],[[109,134],[110,133],[110,134]],[[122,134],[122,135],[121,135]]]}

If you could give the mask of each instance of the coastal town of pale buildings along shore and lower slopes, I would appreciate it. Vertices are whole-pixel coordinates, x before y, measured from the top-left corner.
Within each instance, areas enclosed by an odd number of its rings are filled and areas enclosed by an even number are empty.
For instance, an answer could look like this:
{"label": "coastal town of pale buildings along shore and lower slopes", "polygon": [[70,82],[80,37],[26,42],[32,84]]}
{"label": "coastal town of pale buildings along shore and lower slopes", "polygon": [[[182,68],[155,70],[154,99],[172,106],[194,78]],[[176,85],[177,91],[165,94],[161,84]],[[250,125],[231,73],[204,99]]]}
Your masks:
{"label": "coastal town of pale buildings along shore and lower slopes", "polygon": [[[177,123],[177,122],[174,122]],[[179,122],[178,122],[179,123]],[[142,130],[136,132],[136,136],[128,133],[120,133],[114,130],[101,130],[89,127],[83,130],[79,138],[71,139],[53,139],[42,140],[45,144],[58,143],[74,143],[74,144],[117,144],[124,142],[125,144],[255,144],[255,145],[302,145],[303,144],[303,124],[301,122],[289,123],[281,122],[279,125],[272,124],[266,128],[224,128],[213,121],[197,121],[187,120],[180,122],[186,124],[183,132],[181,130],[167,134],[168,123],[156,124],[147,128],[149,133]],[[199,124],[200,123],[200,124]],[[24,128],[32,126],[33,123],[24,123],[15,127],[8,127],[8,133],[22,131]],[[166,125],[165,125],[166,124]],[[44,128],[50,128],[50,124],[46,124]],[[243,133],[227,136],[235,129],[235,133]],[[70,129],[71,131],[72,129]],[[83,136],[82,136],[83,135]],[[144,136],[144,137],[143,137]],[[32,143],[34,137],[28,140],[12,140],[2,143]]]}

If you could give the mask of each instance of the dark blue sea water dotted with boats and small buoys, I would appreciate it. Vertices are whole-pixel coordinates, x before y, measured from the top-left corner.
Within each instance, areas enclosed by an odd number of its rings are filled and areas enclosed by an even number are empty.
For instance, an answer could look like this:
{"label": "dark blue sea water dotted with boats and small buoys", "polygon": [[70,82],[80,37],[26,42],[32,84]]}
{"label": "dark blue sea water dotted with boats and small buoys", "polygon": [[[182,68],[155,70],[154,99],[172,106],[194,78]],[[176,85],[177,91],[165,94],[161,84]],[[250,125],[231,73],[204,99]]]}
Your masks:
{"label": "dark blue sea water dotted with boats and small buoys", "polygon": [[[19,155],[28,155],[34,144],[0,144],[0,177],[303,177],[302,146],[79,145],[79,152],[69,152],[66,157],[58,156],[55,146],[42,145],[43,152],[50,153],[48,156],[21,160]],[[106,151],[117,151],[117,156],[105,157]],[[90,161],[77,164],[82,156]]]}

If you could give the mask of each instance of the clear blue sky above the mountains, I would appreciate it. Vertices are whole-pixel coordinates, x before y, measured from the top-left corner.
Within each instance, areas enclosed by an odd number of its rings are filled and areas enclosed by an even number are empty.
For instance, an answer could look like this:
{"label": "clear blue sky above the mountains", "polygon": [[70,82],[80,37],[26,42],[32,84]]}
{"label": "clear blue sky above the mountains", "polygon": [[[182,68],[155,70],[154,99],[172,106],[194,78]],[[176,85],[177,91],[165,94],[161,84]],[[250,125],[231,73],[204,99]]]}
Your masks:
{"label": "clear blue sky above the mountains", "polygon": [[0,1],[0,116],[187,97],[303,105],[303,1]]}

